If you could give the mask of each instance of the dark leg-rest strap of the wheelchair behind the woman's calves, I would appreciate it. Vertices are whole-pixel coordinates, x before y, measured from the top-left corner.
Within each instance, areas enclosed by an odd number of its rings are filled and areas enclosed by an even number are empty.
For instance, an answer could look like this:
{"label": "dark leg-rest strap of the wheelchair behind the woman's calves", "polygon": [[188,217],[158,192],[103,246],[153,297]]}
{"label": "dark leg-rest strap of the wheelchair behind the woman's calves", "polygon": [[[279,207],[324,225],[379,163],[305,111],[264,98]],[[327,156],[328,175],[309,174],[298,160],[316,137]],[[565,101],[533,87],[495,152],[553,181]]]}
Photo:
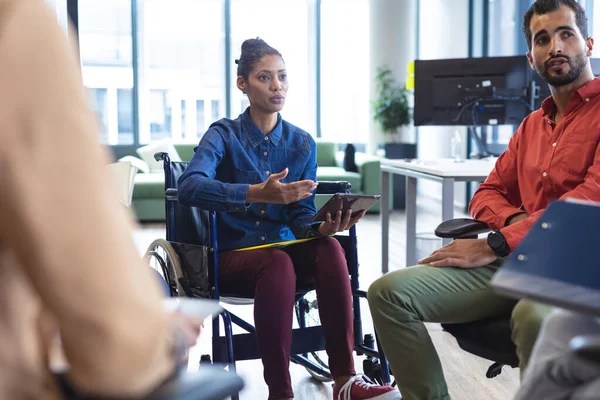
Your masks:
{"label": "dark leg-rest strap of the wheelchair behind the woman's calves", "polygon": [[[322,327],[313,326],[292,331],[292,354],[305,354],[321,350],[325,350]],[[256,360],[261,357],[256,336],[252,333],[233,335],[233,352],[236,361]],[[213,362],[227,363],[228,360],[227,338],[225,336],[213,337]]]}

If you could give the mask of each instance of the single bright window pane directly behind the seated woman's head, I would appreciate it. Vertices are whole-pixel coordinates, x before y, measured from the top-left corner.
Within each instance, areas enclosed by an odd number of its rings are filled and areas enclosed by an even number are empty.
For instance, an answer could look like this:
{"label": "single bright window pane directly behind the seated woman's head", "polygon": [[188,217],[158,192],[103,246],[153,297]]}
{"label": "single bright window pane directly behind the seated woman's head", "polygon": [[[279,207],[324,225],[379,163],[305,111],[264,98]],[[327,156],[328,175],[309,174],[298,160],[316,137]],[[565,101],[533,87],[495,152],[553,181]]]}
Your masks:
{"label": "single bright window pane directly behind the seated woman's head", "polygon": [[[232,117],[246,108],[248,100],[235,86],[242,42],[260,37],[283,56],[290,88],[283,118],[316,136],[316,51],[311,26],[315,23],[314,0],[231,0]],[[237,106],[236,106],[237,105]]]}

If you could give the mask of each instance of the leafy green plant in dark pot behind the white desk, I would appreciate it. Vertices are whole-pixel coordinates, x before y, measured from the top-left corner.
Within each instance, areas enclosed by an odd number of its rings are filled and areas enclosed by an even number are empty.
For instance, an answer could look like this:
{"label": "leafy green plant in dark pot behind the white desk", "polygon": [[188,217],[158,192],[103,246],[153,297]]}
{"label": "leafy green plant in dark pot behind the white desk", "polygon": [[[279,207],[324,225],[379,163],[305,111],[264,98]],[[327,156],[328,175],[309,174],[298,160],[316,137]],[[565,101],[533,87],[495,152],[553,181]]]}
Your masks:
{"label": "leafy green plant in dark pot behind the white desk", "polygon": [[[376,97],[373,101],[373,119],[379,123],[384,134],[391,137],[384,143],[386,158],[416,158],[417,145],[402,142],[402,129],[412,122],[409,93],[398,84],[388,66],[377,69]],[[405,207],[405,178],[394,177],[394,208]]]}

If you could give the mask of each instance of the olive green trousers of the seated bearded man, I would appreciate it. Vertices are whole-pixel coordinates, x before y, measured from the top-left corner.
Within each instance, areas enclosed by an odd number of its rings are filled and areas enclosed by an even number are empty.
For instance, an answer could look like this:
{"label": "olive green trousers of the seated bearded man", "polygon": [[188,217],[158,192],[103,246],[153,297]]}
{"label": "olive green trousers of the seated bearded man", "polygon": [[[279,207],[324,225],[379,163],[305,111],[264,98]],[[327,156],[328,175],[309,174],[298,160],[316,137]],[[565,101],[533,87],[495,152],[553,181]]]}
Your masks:
{"label": "olive green trousers of the seated bearded man", "polygon": [[415,266],[389,273],[371,285],[367,297],[375,330],[403,400],[450,399],[424,322],[458,323],[511,315],[519,367],[525,370],[551,308],[494,293],[490,279],[499,265],[472,269]]}

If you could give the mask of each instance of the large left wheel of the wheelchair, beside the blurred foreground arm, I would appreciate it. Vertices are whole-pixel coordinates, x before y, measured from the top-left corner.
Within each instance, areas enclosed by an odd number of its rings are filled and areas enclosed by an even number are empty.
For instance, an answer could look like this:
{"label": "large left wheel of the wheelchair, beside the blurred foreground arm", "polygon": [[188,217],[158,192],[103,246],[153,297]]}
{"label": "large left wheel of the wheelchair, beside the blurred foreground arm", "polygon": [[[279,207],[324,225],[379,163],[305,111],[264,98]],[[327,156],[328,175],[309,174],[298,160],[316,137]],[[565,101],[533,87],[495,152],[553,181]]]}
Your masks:
{"label": "large left wheel of the wheelchair, beside the blurred foreground arm", "polygon": [[179,283],[183,276],[179,256],[173,246],[165,239],[156,239],[148,246],[144,259],[150,268],[155,269],[165,280],[169,287],[171,297],[183,297],[185,292]]}

